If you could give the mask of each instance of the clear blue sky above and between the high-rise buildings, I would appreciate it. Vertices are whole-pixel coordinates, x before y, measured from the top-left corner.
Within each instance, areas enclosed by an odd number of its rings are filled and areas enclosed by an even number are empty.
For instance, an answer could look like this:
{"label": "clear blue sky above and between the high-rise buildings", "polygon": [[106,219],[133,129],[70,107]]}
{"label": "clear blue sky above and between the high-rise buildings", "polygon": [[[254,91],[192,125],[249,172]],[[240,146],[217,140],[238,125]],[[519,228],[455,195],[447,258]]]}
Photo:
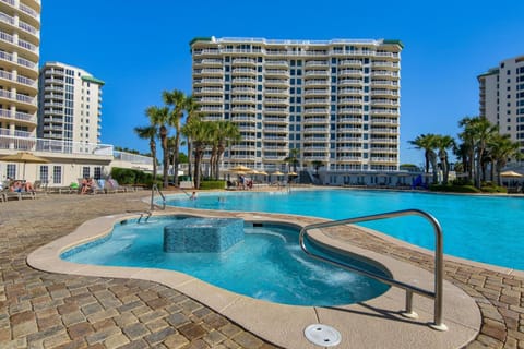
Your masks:
{"label": "clear blue sky above and between the high-rise buildings", "polygon": [[456,136],[478,115],[476,76],[524,55],[524,1],[43,0],[40,64],[60,61],[106,82],[102,142],[148,152],[133,129],[162,92],[191,93],[189,41],[198,36],[269,39],[400,39],[401,163],[422,164],[407,143]]}

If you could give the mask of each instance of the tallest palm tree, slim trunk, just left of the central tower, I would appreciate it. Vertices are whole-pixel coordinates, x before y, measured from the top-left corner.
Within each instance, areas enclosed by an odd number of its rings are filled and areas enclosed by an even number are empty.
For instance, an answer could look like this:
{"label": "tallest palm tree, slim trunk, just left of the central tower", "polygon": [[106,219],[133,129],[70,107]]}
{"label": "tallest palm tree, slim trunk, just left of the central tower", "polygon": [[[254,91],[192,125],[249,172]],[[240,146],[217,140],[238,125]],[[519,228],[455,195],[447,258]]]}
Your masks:
{"label": "tallest palm tree, slim trunk, just left of the central tower", "polygon": [[175,144],[172,152],[172,169],[175,171],[174,182],[178,185],[178,165],[180,153],[180,128],[183,117],[183,110],[186,109],[186,95],[183,92],[174,89],[172,92],[164,91],[162,94],[164,103],[169,108],[168,123],[175,128]]}

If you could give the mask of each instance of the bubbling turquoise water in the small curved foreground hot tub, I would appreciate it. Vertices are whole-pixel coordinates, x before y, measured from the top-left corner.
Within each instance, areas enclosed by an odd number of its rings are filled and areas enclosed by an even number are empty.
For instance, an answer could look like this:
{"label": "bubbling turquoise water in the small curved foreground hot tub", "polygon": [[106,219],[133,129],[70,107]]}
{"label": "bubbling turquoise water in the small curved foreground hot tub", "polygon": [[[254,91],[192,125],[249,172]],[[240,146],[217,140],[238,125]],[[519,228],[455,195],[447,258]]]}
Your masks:
{"label": "bubbling turquoise water in the small curved foreground hot tub", "polygon": [[[389,289],[309,257],[300,249],[299,230],[286,226],[246,224],[245,240],[222,253],[165,253],[164,227],[172,219],[177,218],[116,225],[109,238],[67,251],[61,257],[83,264],[178,270],[233,292],[294,305],[350,304]],[[361,261],[338,260],[388,275]]]}

